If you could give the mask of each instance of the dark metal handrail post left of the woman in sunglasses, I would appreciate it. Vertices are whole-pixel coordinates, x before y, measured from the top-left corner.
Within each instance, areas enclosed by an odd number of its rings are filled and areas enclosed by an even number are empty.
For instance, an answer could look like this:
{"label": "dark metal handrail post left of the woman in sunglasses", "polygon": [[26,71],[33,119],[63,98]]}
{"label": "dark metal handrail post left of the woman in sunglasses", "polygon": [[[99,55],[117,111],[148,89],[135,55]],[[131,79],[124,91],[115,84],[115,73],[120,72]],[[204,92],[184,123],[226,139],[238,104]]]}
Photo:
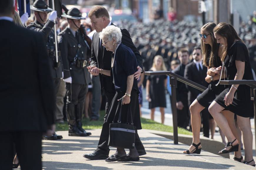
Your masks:
{"label": "dark metal handrail post left of the woman in sunglasses", "polygon": [[174,144],[178,144],[178,123],[177,123],[177,108],[176,108],[176,88],[177,78],[170,77],[170,86],[172,87],[172,123],[173,123],[173,137]]}

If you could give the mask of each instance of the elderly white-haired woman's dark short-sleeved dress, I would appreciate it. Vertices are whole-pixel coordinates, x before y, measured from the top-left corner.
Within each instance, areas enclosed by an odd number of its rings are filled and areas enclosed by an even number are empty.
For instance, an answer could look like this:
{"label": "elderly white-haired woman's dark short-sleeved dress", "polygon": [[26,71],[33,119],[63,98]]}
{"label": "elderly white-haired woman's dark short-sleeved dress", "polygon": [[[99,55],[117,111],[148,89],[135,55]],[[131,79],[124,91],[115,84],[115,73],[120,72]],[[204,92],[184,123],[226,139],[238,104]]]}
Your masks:
{"label": "elderly white-haired woman's dark short-sleeved dress", "polygon": [[[107,113],[105,121],[112,123],[114,115],[117,110],[118,99],[125,95],[127,89],[127,77],[134,74],[137,71],[137,60],[132,52],[132,50],[123,45],[122,43],[117,47],[115,55],[112,55],[114,60],[113,68],[111,69],[111,79],[115,85],[116,94],[110,104],[109,111]],[[131,101],[129,104],[122,105],[122,117],[121,122],[127,122],[128,107],[132,110],[132,119],[134,126],[137,130],[142,129],[140,115],[139,115],[139,89],[137,85],[137,80],[134,78],[133,86],[131,91]],[[118,111],[119,113],[119,111]],[[117,113],[117,114],[118,114]],[[116,116],[115,122],[118,120],[118,115]],[[136,147],[136,146],[135,146]]]}

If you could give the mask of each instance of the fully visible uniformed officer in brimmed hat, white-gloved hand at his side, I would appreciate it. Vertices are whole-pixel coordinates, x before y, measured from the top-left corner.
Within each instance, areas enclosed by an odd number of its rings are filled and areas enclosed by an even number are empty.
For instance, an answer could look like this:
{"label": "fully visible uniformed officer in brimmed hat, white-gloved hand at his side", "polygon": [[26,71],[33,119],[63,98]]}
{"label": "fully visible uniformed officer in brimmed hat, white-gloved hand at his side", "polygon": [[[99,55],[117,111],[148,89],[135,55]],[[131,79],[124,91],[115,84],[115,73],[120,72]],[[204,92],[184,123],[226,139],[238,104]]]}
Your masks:
{"label": "fully visible uniformed officer in brimmed hat, white-gloved hand at his side", "polygon": [[[65,10],[65,9],[64,9]],[[77,8],[65,11],[62,17],[67,18],[69,25],[58,35],[58,43],[64,70],[64,81],[67,89],[67,117],[69,136],[88,136],[82,128],[82,115],[90,73],[86,68],[90,57],[89,43],[79,31],[82,17]]]}

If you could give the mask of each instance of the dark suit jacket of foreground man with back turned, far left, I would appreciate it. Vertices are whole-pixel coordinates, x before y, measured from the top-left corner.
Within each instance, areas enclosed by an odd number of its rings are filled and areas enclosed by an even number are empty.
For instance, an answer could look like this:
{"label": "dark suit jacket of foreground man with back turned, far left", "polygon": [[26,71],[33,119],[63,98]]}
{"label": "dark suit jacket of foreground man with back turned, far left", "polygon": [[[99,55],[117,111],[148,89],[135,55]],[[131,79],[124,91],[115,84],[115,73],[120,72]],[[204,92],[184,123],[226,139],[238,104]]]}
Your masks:
{"label": "dark suit jacket of foreground man with back turned, far left", "polygon": [[0,131],[46,131],[54,85],[43,35],[0,20]]}

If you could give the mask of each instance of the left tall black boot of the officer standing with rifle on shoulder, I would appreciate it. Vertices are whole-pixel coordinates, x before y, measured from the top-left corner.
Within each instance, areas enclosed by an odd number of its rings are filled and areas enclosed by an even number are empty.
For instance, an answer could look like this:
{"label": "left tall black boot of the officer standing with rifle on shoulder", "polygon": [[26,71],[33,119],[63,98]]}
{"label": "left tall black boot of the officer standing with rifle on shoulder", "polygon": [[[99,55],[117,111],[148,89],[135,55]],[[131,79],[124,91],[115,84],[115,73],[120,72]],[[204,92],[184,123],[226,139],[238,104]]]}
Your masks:
{"label": "left tall black boot of the officer standing with rifle on shoulder", "polygon": [[69,123],[69,136],[84,136],[84,134],[77,128],[75,105],[67,103],[67,117]]}

